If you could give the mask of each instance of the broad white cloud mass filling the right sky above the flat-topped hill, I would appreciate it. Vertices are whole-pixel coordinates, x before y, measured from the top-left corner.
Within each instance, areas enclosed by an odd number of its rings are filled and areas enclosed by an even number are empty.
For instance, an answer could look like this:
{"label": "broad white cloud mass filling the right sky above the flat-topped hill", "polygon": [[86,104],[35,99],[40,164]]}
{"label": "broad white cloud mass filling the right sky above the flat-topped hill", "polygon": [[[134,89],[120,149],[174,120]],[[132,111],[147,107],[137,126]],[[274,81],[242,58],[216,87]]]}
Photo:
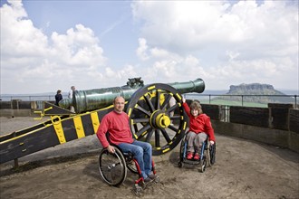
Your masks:
{"label": "broad white cloud mass filling the right sky above the flat-topped hill", "polygon": [[[182,80],[185,75],[189,79],[199,75],[207,89],[260,81],[298,90],[298,6],[289,3],[133,2],[135,21],[142,24],[140,36],[151,55],[159,49],[157,54],[164,57],[156,62],[151,56],[150,77],[167,79],[171,74]],[[180,61],[171,66],[174,72],[165,71],[171,60],[177,61],[166,54],[202,62]],[[181,72],[181,68],[185,70]],[[179,75],[173,74],[176,72]]]}

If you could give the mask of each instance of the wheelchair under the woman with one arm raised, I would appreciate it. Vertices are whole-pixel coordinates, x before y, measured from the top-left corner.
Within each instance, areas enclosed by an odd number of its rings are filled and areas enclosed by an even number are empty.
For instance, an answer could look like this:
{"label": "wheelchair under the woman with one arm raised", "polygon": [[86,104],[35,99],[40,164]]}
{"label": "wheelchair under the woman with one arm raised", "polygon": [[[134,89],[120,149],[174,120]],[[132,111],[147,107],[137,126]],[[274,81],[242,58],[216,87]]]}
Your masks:
{"label": "wheelchair under the woman with one arm raised", "polygon": [[212,166],[216,161],[216,143],[214,145],[210,145],[208,138],[204,141],[201,149],[200,149],[200,158],[199,160],[188,160],[187,159],[187,134],[183,137],[180,143],[179,149],[179,161],[178,167],[183,167],[184,164],[189,165],[199,165],[198,171],[205,172],[207,166]]}

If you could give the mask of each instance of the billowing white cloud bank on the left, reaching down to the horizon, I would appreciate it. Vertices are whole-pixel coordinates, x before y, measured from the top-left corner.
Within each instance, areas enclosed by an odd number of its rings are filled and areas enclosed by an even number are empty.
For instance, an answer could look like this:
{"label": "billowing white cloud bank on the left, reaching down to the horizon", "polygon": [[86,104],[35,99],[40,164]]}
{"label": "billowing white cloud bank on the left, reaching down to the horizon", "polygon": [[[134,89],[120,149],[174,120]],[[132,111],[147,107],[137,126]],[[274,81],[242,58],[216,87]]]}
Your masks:
{"label": "billowing white cloud bank on the left, reaching down to the horizon", "polygon": [[1,93],[66,91],[71,84],[88,89],[91,80],[103,79],[107,58],[92,29],[77,24],[48,38],[22,2],[11,3],[1,7]]}

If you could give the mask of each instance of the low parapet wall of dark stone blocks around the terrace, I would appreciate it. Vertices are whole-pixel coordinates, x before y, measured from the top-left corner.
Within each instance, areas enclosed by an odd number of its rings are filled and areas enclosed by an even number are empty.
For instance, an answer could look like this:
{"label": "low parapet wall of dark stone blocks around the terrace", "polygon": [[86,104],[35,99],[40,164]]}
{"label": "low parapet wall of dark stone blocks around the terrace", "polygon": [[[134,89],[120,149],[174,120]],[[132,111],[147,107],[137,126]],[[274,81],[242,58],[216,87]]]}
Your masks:
{"label": "low parapet wall of dark stone blocks around the terrace", "polygon": [[[188,100],[188,104],[190,100]],[[215,132],[231,137],[287,147],[299,153],[299,109],[292,104],[269,104],[269,108],[202,104],[204,112],[211,118]],[[40,109],[37,101],[0,101],[1,117],[37,116]],[[224,122],[228,117],[229,122]]]}

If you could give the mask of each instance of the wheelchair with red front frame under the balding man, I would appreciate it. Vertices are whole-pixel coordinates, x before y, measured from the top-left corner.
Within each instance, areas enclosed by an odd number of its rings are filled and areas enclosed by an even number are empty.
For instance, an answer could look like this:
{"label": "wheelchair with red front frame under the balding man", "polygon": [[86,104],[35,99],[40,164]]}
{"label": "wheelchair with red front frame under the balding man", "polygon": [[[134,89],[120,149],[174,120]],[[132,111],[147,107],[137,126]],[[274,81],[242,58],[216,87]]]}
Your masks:
{"label": "wheelchair with red front frame under the balding man", "polygon": [[[140,166],[131,153],[123,153],[121,148],[111,144],[115,148],[113,154],[109,153],[107,148],[102,148],[99,156],[99,171],[102,179],[108,185],[118,186],[121,185],[127,177],[127,168],[133,174],[139,175],[133,185],[135,194],[140,192],[146,187],[144,179],[141,175]],[[152,172],[156,175],[154,161],[151,161]],[[154,180],[155,183],[159,182],[159,176]]]}

